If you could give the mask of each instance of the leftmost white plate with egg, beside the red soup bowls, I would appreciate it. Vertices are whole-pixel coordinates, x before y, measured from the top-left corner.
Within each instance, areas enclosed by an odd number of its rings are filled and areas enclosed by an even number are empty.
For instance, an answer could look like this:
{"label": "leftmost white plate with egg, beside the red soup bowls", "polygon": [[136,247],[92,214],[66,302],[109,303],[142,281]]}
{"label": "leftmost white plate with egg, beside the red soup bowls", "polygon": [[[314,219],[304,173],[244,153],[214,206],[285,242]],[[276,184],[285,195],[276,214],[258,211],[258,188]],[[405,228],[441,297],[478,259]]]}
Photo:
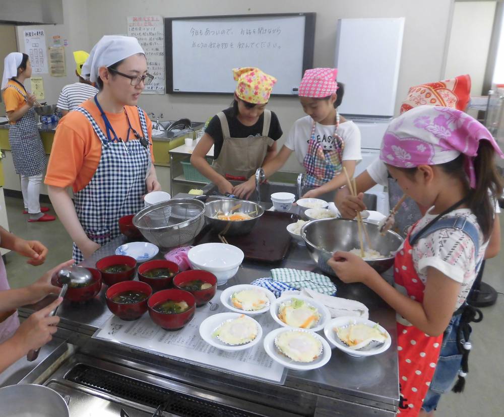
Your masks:
{"label": "leftmost white plate with egg, beside the red soup bowls", "polygon": [[259,343],[263,337],[263,328],[243,313],[219,313],[203,320],[200,336],[221,351],[236,352]]}

